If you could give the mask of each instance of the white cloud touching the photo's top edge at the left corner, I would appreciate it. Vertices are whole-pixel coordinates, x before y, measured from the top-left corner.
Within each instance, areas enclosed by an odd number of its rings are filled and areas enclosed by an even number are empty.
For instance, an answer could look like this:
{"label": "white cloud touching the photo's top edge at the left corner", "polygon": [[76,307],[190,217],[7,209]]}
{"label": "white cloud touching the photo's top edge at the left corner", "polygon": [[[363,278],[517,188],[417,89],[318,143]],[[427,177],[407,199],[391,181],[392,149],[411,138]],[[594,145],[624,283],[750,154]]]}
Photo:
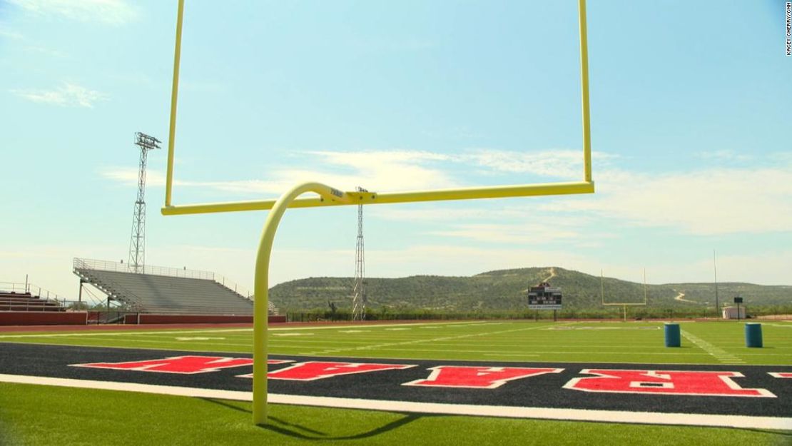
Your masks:
{"label": "white cloud touching the photo's top edge at the left corner", "polygon": [[138,17],[138,11],[124,0],[8,0],[30,13],[123,25]]}

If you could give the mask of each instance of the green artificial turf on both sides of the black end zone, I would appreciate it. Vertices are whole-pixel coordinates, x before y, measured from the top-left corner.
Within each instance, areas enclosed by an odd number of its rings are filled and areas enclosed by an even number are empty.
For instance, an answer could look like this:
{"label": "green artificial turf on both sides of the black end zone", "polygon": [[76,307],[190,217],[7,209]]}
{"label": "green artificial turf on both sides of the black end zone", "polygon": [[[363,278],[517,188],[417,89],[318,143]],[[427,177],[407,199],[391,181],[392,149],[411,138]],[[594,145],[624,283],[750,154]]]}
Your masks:
{"label": "green artificial turf on both sides of the black end zone", "polygon": [[[284,355],[645,364],[792,364],[792,323],[763,323],[763,349],[737,322],[681,322],[680,348],[662,322],[425,322],[279,326],[269,352]],[[695,340],[695,343],[691,340]],[[252,330],[0,333],[0,342],[251,353]],[[2,345],[0,345],[2,348]],[[726,359],[724,359],[726,358]],[[725,362],[726,360],[732,362]],[[792,433],[432,416],[270,405],[252,425],[250,404],[118,391],[0,383],[0,445],[11,444],[729,444],[790,445]]]}

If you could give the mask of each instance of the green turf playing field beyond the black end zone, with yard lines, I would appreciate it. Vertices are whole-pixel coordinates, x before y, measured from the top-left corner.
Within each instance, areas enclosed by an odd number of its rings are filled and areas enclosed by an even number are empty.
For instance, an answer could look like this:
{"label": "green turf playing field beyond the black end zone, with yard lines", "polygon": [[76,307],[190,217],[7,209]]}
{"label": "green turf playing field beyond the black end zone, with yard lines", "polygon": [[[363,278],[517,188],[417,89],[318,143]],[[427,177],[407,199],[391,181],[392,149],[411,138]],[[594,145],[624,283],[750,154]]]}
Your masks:
{"label": "green turf playing field beyond the black end zone, with yard lines", "polygon": [[[662,322],[453,322],[276,327],[269,353],[407,359],[642,364],[792,364],[792,323],[763,323],[764,348],[745,346],[739,322],[681,322],[680,348],[664,346]],[[0,333],[0,341],[251,353],[252,330]],[[695,341],[695,342],[694,342]]]}

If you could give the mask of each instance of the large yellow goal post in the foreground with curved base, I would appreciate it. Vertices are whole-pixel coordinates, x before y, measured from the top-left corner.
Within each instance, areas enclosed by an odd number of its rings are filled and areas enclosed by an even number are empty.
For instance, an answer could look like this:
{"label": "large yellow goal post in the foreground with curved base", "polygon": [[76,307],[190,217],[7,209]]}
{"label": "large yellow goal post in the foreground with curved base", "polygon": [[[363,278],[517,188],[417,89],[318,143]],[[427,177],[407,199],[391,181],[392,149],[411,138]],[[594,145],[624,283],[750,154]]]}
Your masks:
{"label": "large yellow goal post in the foreground with curved base", "polygon": [[[175,48],[173,51],[173,86],[171,90],[168,156],[166,168],[165,205],[162,215],[190,215],[215,212],[243,212],[269,210],[261,241],[257,250],[254,274],[253,303],[253,421],[257,425],[267,422],[267,326],[268,326],[268,270],[272,242],[280,219],[287,208],[314,208],[353,204],[394,204],[421,201],[478,200],[518,196],[555,196],[594,193],[592,181],[591,130],[588,97],[588,40],[585,0],[578,0],[581,51],[581,105],[583,133],[582,181],[526,185],[500,185],[458,189],[419,190],[399,193],[342,192],[321,183],[308,182],[295,185],[277,200],[248,200],[204,204],[173,204],[173,162],[176,146],[176,117],[181,65],[181,36],[185,0],[178,0]],[[303,193],[317,196],[299,198]]]}

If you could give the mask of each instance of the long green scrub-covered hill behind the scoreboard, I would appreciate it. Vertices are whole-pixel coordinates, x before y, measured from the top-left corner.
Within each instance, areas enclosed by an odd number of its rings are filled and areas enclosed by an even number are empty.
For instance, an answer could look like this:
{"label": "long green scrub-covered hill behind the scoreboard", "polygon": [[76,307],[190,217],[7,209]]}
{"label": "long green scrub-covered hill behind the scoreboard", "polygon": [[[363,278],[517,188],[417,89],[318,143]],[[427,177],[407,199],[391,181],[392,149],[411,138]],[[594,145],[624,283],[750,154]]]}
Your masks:
{"label": "long green scrub-covered hill behind the scoreboard", "polygon": [[[367,279],[368,307],[372,310],[523,311],[527,288],[549,280],[561,287],[565,310],[602,308],[607,303],[642,303],[644,284],[562,269],[503,269],[475,276],[409,276],[397,279]],[[714,305],[714,284],[646,285],[651,307],[710,307]],[[351,277],[311,277],[278,284],[270,299],[282,310],[326,308],[333,302],[340,309],[351,307]],[[743,283],[718,284],[720,302],[742,295],[748,305],[790,305],[792,286]],[[680,299],[676,299],[680,298]]]}

